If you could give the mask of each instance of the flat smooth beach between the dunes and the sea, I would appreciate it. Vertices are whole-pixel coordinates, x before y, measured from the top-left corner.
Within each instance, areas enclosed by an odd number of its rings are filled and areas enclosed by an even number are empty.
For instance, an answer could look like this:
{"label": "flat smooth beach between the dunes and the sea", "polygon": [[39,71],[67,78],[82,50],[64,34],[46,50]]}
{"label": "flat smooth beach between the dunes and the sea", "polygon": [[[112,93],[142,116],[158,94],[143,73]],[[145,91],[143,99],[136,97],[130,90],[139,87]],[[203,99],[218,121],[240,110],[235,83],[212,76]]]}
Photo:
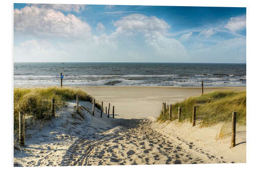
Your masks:
{"label": "flat smooth beach between the dunes and the sea", "polygon": [[[200,87],[149,87],[149,86],[71,86],[85,90],[104,108],[115,105],[117,118],[158,117],[162,103],[174,104],[190,96],[202,94]],[[204,87],[204,93],[214,90],[243,91],[246,87]],[[111,107],[112,109],[112,107]]]}

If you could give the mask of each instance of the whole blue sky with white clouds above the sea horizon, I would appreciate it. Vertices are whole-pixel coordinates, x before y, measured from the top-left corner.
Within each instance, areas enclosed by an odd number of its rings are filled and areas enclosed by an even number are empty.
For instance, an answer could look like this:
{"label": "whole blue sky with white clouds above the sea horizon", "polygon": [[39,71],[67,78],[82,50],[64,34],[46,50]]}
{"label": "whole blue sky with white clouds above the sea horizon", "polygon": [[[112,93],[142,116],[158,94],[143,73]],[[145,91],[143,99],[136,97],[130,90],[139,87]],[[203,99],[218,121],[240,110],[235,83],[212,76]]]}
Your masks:
{"label": "whole blue sky with white clouds above the sea horizon", "polygon": [[246,63],[246,8],[14,4],[14,62]]}

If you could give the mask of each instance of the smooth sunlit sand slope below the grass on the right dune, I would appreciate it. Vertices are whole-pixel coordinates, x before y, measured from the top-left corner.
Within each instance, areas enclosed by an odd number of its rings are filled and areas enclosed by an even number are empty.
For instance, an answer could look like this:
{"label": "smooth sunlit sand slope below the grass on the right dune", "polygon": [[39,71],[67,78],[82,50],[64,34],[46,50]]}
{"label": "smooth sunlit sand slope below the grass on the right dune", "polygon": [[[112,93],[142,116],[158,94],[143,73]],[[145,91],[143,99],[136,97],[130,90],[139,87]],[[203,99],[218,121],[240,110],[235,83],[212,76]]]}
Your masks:
{"label": "smooth sunlit sand slope below the grass on the right dune", "polygon": [[[193,143],[193,145],[183,145],[183,147],[194,148],[195,151],[203,155],[221,155],[223,159],[219,163],[236,162],[246,163],[246,126],[237,126],[236,146],[230,148],[231,134],[219,139],[217,135],[223,124],[200,128],[199,123],[192,127],[189,122],[178,123],[177,120],[165,123],[153,123],[152,127],[159,133],[166,135],[168,138],[176,139],[177,143]],[[231,126],[231,123],[230,123]],[[199,149],[200,148],[200,149]]]}

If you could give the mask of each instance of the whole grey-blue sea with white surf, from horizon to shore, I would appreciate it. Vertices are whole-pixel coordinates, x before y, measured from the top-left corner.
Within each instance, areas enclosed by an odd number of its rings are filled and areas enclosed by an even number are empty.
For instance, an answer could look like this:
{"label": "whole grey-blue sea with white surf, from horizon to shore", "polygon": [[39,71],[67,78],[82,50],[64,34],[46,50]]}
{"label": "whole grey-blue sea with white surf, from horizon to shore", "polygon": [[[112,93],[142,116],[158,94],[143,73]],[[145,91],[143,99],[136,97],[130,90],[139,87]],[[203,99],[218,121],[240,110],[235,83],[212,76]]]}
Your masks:
{"label": "whole grey-blue sea with white surf, from horizon to shore", "polygon": [[14,63],[14,86],[246,86],[246,64]]}

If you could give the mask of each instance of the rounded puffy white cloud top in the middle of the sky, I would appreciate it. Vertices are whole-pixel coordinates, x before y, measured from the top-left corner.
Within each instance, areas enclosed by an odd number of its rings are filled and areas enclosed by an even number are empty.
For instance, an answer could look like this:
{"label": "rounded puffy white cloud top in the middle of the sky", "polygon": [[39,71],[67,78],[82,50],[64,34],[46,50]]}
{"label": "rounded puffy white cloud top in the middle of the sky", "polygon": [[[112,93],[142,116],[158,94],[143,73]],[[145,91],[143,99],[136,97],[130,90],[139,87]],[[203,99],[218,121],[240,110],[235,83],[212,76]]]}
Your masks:
{"label": "rounded puffy white cloud top in the middle of the sky", "polygon": [[156,31],[161,33],[167,33],[167,29],[170,28],[163,19],[159,19],[156,16],[148,17],[142,14],[124,16],[116,21],[114,26],[117,27],[117,31]]}

